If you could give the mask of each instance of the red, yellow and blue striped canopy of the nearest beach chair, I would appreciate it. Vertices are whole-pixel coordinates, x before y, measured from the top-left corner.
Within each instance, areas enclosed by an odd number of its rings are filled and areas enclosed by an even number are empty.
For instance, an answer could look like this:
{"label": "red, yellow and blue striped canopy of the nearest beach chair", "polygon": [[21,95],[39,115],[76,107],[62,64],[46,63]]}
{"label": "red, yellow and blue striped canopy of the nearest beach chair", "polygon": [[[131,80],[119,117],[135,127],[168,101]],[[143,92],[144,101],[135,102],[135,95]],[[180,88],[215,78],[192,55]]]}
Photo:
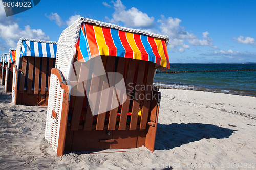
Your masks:
{"label": "red, yellow and blue striped canopy of the nearest beach chair", "polygon": [[88,61],[99,55],[151,61],[169,69],[165,39],[82,23],[76,44],[77,60]]}

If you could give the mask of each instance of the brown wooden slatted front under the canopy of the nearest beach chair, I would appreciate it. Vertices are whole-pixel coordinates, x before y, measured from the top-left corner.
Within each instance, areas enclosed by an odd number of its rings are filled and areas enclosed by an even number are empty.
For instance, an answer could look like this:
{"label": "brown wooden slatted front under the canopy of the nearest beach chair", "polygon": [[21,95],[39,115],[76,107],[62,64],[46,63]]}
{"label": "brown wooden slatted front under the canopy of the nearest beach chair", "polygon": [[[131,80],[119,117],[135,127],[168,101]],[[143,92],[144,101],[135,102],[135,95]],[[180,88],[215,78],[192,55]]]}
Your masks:
{"label": "brown wooden slatted front under the canopy of the nearest beach chair", "polygon": [[[71,130],[81,129],[81,123],[83,124],[83,130],[125,130],[127,128],[130,130],[138,128],[145,129],[148,122],[148,113],[150,111],[155,63],[114,56],[101,56],[101,59],[106,73],[118,72],[123,75],[128,94],[127,100],[124,101],[120,107],[111,108],[108,112],[98,114],[95,119],[92,115],[90,105],[88,102],[84,102],[87,101],[87,96],[72,96],[71,98],[74,99],[74,102],[71,102],[73,104],[70,105],[70,110],[73,113]],[[89,60],[87,62],[91,61]],[[93,67],[95,64],[96,63],[91,62],[90,66],[94,69],[99,69],[96,66]],[[83,77],[83,80],[87,80],[88,77],[92,77],[90,74],[92,74],[92,72],[89,72],[89,69],[80,68],[80,70],[76,70],[76,76],[78,79]],[[93,77],[90,80],[78,84],[76,87],[77,91],[84,92],[84,89],[88,88],[88,85],[90,84],[89,96],[95,92],[99,92],[98,99],[100,102],[97,102],[99,108],[105,102],[109,102],[109,104],[111,104],[114,102],[113,100],[115,98],[118,98],[115,90],[111,91],[108,96],[100,93],[103,89],[109,88],[118,83],[114,82],[115,80],[110,80],[110,78],[108,79],[108,82],[102,82],[102,79],[104,79],[104,77]],[[116,79],[116,81],[118,80]],[[103,85],[100,86],[102,89],[99,89],[99,86],[97,86],[99,83],[103,83]],[[125,96],[120,96],[119,101],[123,101],[125,98]],[[81,122],[80,116],[81,113],[84,112],[83,108],[87,109],[84,122]],[[141,108],[141,117],[138,119],[139,108]],[[127,121],[129,112],[132,112],[131,120]],[[117,113],[121,114],[119,120],[117,120]],[[108,121],[106,121],[106,117],[108,117]]]}

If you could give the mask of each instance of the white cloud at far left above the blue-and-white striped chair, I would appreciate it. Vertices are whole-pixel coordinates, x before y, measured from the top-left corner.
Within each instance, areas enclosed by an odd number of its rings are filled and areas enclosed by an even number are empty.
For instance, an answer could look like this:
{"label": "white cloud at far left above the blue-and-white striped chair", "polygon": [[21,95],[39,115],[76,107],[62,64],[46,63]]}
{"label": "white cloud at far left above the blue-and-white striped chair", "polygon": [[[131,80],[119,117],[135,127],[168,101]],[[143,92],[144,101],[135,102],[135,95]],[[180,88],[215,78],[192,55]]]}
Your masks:
{"label": "white cloud at far left above the blue-and-white striped chair", "polygon": [[0,38],[3,40],[1,49],[8,49],[10,47],[16,48],[19,38],[31,38],[50,40],[50,37],[46,35],[41,29],[31,29],[29,25],[20,28],[17,21],[12,17],[6,17],[4,7],[0,7]]}

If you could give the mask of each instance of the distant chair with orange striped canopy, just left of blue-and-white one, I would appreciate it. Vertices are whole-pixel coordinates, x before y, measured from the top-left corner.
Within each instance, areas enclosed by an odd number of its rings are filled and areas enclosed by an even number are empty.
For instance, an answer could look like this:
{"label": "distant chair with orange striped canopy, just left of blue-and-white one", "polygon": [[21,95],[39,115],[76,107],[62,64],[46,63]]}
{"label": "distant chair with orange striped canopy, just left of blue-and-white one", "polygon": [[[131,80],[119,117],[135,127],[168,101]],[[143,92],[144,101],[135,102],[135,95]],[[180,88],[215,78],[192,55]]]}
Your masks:
{"label": "distant chair with orange striped canopy, just left of blue-and-white one", "polygon": [[13,67],[15,65],[16,49],[10,48],[8,54],[8,64],[5,76],[5,92],[12,92]]}

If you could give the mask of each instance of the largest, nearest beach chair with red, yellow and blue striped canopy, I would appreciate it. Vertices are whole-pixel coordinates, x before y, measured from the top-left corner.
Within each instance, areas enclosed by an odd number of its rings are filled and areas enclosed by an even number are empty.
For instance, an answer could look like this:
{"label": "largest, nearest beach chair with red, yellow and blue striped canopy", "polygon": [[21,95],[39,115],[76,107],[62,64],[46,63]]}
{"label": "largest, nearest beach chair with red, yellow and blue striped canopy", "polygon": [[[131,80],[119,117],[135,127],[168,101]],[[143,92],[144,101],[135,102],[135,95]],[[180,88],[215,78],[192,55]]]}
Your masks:
{"label": "largest, nearest beach chair with red, yellow and blue striped canopy", "polygon": [[45,139],[64,152],[154,151],[168,36],[79,18],[60,35],[51,71]]}

